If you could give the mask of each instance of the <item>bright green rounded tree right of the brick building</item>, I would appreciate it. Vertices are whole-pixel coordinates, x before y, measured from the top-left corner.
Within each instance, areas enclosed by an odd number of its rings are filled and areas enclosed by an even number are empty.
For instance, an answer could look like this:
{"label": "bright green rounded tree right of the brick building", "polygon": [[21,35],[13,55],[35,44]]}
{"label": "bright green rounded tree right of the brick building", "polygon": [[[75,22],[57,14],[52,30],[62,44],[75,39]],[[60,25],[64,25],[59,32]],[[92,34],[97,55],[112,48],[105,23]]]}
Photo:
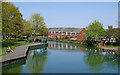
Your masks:
{"label": "bright green rounded tree right of the brick building", "polygon": [[103,24],[98,21],[94,21],[87,27],[87,39],[88,40],[101,40],[105,36],[105,30],[103,29]]}

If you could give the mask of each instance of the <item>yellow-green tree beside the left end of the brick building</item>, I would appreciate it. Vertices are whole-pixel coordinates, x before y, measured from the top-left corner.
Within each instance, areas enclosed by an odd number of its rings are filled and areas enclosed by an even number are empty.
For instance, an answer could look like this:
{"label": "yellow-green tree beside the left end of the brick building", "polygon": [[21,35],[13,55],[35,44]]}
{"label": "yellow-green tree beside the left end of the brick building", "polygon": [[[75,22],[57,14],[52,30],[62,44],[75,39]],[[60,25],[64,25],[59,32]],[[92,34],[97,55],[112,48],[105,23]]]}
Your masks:
{"label": "yellow-green tree beside the left end of the brick building", "polygon": [[40,14],[33,14],[30,18],[30,23],[35,35],[46,35],[47,27],[45,26],[44,18]]}

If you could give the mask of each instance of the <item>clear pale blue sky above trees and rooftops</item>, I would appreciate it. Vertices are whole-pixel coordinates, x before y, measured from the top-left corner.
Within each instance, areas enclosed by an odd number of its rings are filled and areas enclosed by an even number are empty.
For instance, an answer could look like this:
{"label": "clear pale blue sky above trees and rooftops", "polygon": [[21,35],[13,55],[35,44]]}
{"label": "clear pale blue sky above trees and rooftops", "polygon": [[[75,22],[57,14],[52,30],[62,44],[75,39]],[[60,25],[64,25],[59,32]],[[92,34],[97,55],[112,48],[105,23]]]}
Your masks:
{"label": "clear pale blue sky above trees and rooftops", "polygon": [[94,20],[118,27],[117,2],[13,2],[19,7],[23,18],[29,20],[34,13],[40,13],[48,28],[85,28]]}

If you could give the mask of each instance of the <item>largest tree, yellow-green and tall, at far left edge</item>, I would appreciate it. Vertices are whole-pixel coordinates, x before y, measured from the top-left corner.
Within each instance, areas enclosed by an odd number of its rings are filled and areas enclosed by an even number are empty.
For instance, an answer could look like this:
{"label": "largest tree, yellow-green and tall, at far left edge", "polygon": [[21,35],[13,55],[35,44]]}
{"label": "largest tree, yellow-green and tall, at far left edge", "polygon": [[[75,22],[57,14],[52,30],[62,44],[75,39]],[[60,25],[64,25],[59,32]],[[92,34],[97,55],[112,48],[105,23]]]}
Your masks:
{"label": "largest tree, yellow-green and tall, at far left edge", "polygon": [[22,32],[22,14],[11,2],[2,2],[2,34],[15,38]]}

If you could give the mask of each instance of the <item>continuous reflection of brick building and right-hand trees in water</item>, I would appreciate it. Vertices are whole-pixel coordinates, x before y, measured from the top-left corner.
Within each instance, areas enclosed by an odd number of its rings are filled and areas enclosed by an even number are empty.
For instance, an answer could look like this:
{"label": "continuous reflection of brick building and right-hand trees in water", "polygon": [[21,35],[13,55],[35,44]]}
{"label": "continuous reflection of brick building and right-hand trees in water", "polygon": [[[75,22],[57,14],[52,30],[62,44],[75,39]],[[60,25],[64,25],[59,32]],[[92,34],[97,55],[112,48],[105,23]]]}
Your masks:
{"label": "continuous reflection of brick building and right-hand trees in water", "polygon": [[104,51],[98,48],[80,47],[73,44],[57,42],[49,42],[48,48],[66,51],[80,50],[84,52],[83,60],[89,66],[90,70],[94,72],[102,71],[105,65],[109,65],[107,66],[109,68],[118,66],[117,55],[114,51]]}

